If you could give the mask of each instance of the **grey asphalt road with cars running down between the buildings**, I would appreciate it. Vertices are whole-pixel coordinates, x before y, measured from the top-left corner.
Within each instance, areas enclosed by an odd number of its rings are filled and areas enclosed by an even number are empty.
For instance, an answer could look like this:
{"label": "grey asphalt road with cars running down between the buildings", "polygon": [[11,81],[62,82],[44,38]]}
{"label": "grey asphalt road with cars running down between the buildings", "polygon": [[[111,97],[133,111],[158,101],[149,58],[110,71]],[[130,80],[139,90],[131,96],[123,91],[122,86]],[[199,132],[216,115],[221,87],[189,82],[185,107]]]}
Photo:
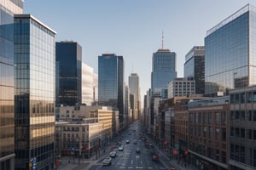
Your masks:
{"label": "grey asphalt road with cars running down between the buildings", "polygon": [[[124,145],[124,150],[119,151],[119,145],[115,145],[116,148],[113,150],[117,150],[117,156],[113,158],[112,164],[102,166],[99,169],[166,169],[160,161],[152,160],[149,148],[145,146],[143,140],[140,138],[143,135],[140,129],[138,124],[134,124],[127,129],[119,137],[119,141]],[[126,140],[129,140],[130,144],[126,144]],[[137,144],[134,144],[134,141],[137,141]],[[141,153],[136,153],[137,148],[141,150]]]}

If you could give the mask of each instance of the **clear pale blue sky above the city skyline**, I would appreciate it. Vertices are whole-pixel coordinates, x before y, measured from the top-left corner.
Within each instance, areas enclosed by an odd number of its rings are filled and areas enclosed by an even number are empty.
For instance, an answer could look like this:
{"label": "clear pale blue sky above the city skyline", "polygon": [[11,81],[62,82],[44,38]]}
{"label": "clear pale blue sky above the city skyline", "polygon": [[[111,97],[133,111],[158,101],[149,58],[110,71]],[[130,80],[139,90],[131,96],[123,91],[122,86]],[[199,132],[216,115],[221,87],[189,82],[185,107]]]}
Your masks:
{"label": "clear pale blue sky above the city skyline", "polygon": [[83,62],[97,73],[97,56],[123,55],[125,82],[140,77],[141,95],[150,88],[152,54],[161,48],[177,53],[177,76],[183,77],[185,54],[204,45],[207,31],[255,0],[25,0],[32,14],[57,31],[56,41],[79,42]]}

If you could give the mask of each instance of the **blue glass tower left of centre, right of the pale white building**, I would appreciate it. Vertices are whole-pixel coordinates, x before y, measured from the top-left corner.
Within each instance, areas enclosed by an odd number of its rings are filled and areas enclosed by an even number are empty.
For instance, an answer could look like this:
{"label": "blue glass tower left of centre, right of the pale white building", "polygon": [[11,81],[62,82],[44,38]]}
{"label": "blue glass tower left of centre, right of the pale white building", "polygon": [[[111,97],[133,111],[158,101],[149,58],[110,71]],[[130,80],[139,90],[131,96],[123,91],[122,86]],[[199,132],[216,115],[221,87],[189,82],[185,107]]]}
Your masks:
{"label": "blue glass tower left of centre, right of the pale white building", "polygon": [[102,54],[98,57],[99,105],[112,106],[119,111],[119,127],[123,128],[124,72],[123,56]]}

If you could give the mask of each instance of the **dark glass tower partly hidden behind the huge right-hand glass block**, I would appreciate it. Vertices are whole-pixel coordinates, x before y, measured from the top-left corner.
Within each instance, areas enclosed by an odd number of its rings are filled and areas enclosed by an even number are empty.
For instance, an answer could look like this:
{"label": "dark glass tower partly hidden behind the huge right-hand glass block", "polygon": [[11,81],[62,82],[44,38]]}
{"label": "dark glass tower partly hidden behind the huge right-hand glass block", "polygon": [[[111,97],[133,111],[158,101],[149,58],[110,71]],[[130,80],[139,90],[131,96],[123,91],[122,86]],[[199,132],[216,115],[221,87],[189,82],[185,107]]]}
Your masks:
{"label": "dark glass tower partly hidden behind the huge right-hand glass block", "polygon": [[205,47],[193,47],[185,59],[184,78],[195,80],[195,94],[205,94]]}

